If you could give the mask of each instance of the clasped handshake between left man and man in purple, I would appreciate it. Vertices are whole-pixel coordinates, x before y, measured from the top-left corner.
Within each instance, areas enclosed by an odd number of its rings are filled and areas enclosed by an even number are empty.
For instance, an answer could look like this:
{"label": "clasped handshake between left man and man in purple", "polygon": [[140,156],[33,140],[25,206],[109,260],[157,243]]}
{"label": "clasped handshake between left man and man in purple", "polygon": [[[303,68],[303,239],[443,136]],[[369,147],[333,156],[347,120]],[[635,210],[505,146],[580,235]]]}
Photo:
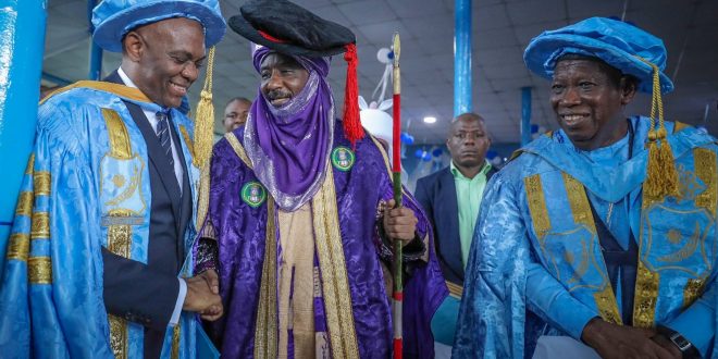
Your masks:
{"label": "clasped handshake between left man and man in purple", "polygon": [[182,310],[197,312],[203,320],[215,321],[222,317],[224,307],[220,298],[220,280],[214,270],[186,278],[187,295]]}

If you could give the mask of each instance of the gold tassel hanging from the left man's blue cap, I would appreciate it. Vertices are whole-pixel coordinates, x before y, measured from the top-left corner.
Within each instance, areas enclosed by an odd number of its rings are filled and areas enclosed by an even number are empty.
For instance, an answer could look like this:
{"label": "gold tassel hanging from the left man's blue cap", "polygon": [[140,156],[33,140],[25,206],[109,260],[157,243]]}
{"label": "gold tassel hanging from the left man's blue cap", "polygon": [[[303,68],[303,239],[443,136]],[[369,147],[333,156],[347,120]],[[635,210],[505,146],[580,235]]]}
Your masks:
{"label": "gold tassel hanging from the left man's blue cap", "polygon": [[214,145],[214,106],[212,104],[212,70],[214,66],[214,47],[209,49],[207,55],[207,75],[205,87],[199,95],[199,102],[195,111],[195,158],[193,163],[202,169],[212,156]]}

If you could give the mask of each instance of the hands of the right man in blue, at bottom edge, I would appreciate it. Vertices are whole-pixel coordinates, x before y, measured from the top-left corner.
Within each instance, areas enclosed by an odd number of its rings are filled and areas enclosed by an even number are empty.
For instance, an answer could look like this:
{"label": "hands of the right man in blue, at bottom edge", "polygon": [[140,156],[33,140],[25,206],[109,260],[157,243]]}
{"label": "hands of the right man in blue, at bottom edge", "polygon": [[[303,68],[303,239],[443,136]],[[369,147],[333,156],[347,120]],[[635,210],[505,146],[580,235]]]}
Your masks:
{"label": "hands of the right man in blue, at bottom edge", "polygon": [[656,333],[649,330],[621,326],[594,319],[583,329],[581,339],[594,348],[602,358],[680,358],[652,341],[654,335]]}

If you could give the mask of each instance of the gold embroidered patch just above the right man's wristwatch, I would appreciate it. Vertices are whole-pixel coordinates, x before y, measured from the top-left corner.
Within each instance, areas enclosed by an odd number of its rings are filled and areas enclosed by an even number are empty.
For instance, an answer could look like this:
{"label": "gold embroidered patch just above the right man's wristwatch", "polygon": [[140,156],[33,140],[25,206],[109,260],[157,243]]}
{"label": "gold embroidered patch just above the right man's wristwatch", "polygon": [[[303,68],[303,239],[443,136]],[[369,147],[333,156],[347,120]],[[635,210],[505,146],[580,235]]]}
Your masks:
{"label": "gold embroidered patch just above the right man's wristwatch", "polygon": [[652,272],[642,260],[639,260],[633,300],[633,326],[654,327],[659,281],[658,272]]}

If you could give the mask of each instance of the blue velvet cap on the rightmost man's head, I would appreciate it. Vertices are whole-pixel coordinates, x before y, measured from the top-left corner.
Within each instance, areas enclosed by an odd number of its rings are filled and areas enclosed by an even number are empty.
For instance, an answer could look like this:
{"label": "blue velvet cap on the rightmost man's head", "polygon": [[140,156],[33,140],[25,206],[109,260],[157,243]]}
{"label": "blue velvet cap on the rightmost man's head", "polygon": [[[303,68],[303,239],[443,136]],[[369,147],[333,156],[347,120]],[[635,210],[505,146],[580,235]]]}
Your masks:
{"label": "blue velvet cap on the rightmost man's head", "polygon": [[535,74],[552,78],[556,60],[567,53],[598,58],[621,73],[639,79],[639,91],[653,91],[653,69],[641,57],[660,70],[661,92],[673,90],[673,83],[664,73],[666,47],[659,38],[619,20],[591,17],[582,22],[544,32],[534,37],[523,61]]}

